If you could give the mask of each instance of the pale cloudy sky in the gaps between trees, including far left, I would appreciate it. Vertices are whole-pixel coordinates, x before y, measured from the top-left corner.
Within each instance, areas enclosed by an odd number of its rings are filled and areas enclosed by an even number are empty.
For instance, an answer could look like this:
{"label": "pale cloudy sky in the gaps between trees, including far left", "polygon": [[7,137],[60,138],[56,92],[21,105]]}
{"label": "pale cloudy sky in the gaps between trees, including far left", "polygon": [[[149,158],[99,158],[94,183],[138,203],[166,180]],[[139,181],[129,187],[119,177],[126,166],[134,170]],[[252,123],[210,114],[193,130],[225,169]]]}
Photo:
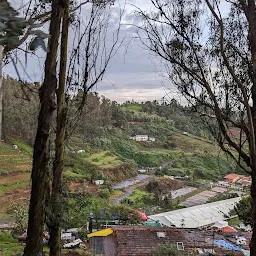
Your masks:
{"label": "pale cloudy sky in the gaps between trees, including far left", "polygon": [[[114,12],[119,8],[125,8],[122,18],[120,39],[124,39],[122,46],[116,55],[111,59],[103,80],[95,87],[94,91],[119,103],[127,100],[147,101],[161,100],[162,97],[170,95],[169,82],[163,78],[164,68],[160,61],[154,56],[139,39],[135,38],[134,29],[127,23],[134,22],[134,7],[138,6],[143,10],[149,10],[150,0],[119,0],[113,7]],[[20,7],[21,1],[11,0],[12,6]],[[23,5],[26,1],[22,1]],[[83,10],[82,10],[83,11]],[[44,28],[47,31],[47,27]],[[109,37],[112,35],[110,34]],[[45,53],[37,50],[36,56],[25,55],[19,52],[14,55],[16,66],[21,79],[35,82],[43,80],[43,65]],[[20,63],[23,63],[24,68]],[[4,73],[17,77],[13,64],[4,67]]]}

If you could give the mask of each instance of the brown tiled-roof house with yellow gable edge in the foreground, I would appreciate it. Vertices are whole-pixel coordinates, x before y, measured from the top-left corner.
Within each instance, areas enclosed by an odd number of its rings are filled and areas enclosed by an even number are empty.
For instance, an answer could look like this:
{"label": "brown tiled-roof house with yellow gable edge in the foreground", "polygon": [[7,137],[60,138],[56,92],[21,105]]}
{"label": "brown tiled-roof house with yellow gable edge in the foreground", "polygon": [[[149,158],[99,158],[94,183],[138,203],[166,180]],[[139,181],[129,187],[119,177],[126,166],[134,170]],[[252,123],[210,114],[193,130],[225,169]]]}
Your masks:
{"label": "brown tiled-roof house with yellow gable edge in the foreground", "polygon": [[[227,255],[227,249],[213,245],[212,231],[148,226],[112,226],[88,235],[94,255],[151,256],[159,244],[173,245],[180,251],[195,253],[214,250],[217,255]],[[214,239],[225,240],[216,233]],[[236,244],[234,246],[238,247]]]}

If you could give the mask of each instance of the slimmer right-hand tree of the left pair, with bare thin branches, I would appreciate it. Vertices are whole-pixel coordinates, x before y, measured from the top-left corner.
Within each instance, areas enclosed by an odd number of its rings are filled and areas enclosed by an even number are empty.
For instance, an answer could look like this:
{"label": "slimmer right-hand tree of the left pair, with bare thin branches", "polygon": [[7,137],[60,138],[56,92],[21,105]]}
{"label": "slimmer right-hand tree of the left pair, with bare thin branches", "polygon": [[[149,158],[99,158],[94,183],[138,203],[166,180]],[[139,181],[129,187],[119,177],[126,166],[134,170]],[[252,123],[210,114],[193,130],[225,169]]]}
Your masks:
{"label": "slimmer right-hand tree of the left pair, with bare thin branches", "polygon": [[[113,1],[111,0],[88,3],[84,22],[81,22],[78,17],[77,20],[73,21],[73,24],[70,24],[67,5],[63,15],[57,89],[55,158],[52,189],[47,209],[47,225],[50,229],[50,255],[52,256],[60,255],[61,251],[62,175],[65,140],[69,137],[71,127],[74,126],[74,123],[76,124],[85,106],[88,92],[102,79],[110,59],[121,44],[119,32],[122,11],[119,13],[118,24],[115,24],[116,28],[112,31],[112,40],[107,43],[108,31],[113,25],[109,10],[112,4]],[[69,26],[74,28],[75,39],[70,36],[69,40]],[[73,42],[69,61],[67,61],[68,41]],[[74,96],[74,94],[76,95],[75,100],[71,100],[73,98],[71,95]],[[72,106],[73,103],[75,103],[75,107]],[[75,110],[75,113],[72,113],[72,110]]]}

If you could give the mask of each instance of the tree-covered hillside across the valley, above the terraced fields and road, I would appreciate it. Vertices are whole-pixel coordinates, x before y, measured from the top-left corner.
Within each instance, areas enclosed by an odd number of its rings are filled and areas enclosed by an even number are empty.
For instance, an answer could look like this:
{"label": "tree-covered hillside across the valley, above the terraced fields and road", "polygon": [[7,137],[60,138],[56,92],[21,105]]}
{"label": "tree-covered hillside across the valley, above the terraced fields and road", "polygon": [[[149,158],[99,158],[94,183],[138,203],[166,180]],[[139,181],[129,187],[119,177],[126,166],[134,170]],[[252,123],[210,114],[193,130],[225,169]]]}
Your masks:
{"label": "tree-covered hillside across the valley, above the terraced fields and road", "polygon": [[[19,82],[7,78],[5,87],[5,139],[13,144],[25,140],[32,145],[38,86],[28,84],[24,95]],[[168,103],[118,104],[89,93],[84,110],[77,113],[79,97],[73,98],[69,110],[65,157],[68,180],[119,181],[134,176],[141,167],[157,168],[160,176],[187,175],[193,180],[216,180],[230,171],[241,171],[219,151],[192,109],[175,99]],[[128,139],[135,134],[147,134],[156,141]],[[31,148],[26,150],[31,153]]]}

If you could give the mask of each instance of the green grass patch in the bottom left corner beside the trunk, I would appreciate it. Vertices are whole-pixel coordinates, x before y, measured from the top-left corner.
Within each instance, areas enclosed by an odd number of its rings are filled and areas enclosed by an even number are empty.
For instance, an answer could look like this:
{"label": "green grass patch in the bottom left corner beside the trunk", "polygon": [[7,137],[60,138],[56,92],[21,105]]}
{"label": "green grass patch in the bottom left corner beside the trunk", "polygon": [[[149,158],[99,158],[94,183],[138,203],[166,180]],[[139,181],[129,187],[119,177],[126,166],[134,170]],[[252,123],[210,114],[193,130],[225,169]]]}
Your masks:
{"label": "green grass patch in the bottom left corner beside the trunk", "polygon": [[9,232],[0,232],[0,256],[22,255],[24,247]]}

